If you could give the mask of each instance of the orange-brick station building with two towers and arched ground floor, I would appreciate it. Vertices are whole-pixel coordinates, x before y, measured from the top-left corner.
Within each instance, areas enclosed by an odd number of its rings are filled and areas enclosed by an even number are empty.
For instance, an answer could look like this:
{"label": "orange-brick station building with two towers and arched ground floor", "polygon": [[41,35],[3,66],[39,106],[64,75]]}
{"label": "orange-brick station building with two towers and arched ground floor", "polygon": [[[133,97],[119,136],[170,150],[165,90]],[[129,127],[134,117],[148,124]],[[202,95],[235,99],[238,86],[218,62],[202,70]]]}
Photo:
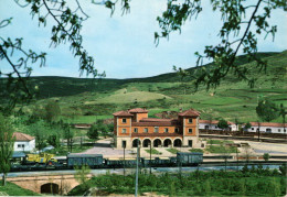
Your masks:
{"label": "orange-brick station building with two towers and arched ground floor", "polygon": [[142,108],[114,114],[114,142],[117,149],[199,146],[199,117],[194,109],[178,113],[177,119],[148,118]]}

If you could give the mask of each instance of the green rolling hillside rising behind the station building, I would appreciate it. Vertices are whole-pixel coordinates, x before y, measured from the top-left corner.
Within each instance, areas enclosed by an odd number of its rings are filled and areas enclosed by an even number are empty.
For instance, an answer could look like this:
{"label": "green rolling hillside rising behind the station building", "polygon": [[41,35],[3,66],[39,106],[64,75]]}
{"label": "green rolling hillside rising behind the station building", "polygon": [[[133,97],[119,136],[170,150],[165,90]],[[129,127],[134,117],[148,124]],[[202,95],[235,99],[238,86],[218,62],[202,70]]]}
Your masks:
{"label": "green rolling hillside rising behind the station building", "polygon": [[[109,118],[117,110],[134,107],[147,107],[151,116],[163,110],[192,107],[202,112],[203,119],[212,116],[231,121],[235,118],[240,121],[256,121],[258,97],[267,97],[287,106],[287,51],[261,53],[259,56],[267,61],[266,73],[259,72],[255,63],[246,64],[246,56],[236,59],[237,66],[246,66],[251,72],[249,77],[256,79],[253,89],[246,81],[236,79],[233,73],[216,89],[206,91],[200,87],[196,92],[193,92],[192,78],[181,81],[176,73],[131,79],[32,77],[29,83],[40,88],[38,105],[43,106],[47,99],[56,99],[63,116],[74,114],[73,122],[93,122],[95,116]],[[205,66],[212,67],[212,64]],[[195,69],[188,70],[193,73]],[[28,112],[31,112],[32,106],[26,107]]]}

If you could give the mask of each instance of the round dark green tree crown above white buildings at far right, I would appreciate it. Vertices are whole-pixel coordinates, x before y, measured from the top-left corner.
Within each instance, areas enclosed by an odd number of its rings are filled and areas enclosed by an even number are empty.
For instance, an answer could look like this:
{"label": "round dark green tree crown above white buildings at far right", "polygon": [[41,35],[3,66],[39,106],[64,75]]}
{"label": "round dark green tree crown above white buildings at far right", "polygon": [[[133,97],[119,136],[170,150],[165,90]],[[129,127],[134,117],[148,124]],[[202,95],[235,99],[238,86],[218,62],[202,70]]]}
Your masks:
{"label": "round dark green tree crown above white buildings at far right", "polygon": [[270,122],[279,116],[279,109],[269,99],[261,99],[256,107],[256,113],[263,121]]}

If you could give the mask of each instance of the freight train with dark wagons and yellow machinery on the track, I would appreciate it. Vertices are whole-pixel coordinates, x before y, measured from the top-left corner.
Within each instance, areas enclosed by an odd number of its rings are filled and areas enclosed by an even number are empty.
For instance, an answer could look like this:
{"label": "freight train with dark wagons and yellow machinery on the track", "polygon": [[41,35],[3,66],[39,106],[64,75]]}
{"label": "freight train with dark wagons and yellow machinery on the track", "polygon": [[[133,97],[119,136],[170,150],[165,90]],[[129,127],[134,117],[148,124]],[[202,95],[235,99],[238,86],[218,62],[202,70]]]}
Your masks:
{"label": "freight train with dark wagons and yellow machinery on the track", "polygon": [[[51,154],[14,154],[11,161],[11,172],[20,171],[47,171],[47,169],[73,169],[87,165],[91,168],[124,168],[135,167],[137,158],[105,158],[102,154],[70,153],[64,157],[53,157]],[[202,153],[178,152],[171,157],[140,157],[140,167],[177,167],[177,166],[199,166],[203,161]]]}

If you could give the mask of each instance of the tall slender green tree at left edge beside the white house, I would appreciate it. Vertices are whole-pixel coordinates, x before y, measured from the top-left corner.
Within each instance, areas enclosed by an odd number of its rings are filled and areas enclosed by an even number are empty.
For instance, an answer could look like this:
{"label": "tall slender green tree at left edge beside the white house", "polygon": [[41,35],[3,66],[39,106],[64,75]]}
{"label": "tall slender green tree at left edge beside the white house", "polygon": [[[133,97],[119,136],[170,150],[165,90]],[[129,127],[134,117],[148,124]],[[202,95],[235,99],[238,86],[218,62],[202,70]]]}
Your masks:
{"label": "tall slender green tree at left edge beside the white house", "polygon": [[0,173],[2,173],[2,185],[6,185],[6,176],[10,171],[10,158],[13,154],[14,138],[13,128],[9,120],[0,113]]}

